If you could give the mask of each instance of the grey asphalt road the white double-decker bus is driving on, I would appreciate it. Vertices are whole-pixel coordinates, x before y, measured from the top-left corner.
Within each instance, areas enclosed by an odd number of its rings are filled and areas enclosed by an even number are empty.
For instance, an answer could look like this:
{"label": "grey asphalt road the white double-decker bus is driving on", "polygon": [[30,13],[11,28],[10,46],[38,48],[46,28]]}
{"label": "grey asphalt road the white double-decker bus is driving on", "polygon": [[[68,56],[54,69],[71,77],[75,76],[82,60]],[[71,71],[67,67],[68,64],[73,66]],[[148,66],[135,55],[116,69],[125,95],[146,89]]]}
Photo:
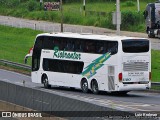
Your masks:
{"label": "grey asphalt road the white double-decker bus is driving on", "polygon": [[[21,86],[28,86],[30,88],[41,89],[49,93],[64,95],[72,99],[83,100],[121,111],[158,111],[158,113],[160,113],[160,93],[134,91],[129,92],[128,95],[120,96],[108,94],[106,92],[101,92],[99,95],[94,95],[92,93],[84,94],[81,90],[70,90],[69,88],[52,87],[51,89],[44,89],[42,84],[32,83],[30,76],[2,69],[0,69],[0,80]],[[25,83],[23,81],[25,81]]]}

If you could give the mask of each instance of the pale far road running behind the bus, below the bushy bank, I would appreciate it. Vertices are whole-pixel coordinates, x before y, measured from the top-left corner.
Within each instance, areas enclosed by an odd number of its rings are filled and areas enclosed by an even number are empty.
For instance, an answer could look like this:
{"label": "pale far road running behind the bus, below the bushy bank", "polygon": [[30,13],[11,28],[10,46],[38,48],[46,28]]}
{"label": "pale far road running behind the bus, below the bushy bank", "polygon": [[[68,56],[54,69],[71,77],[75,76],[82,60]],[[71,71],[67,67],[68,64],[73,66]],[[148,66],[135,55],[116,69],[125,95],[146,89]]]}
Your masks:
{"label": "pale far road running behind the bus, below the bushy bank", "polygon": [[[36,30],[42,30],[44,32],[60,32],[61,28],[59,23],[28,20],[28,19],[15,18],[9,16],[0,16],[0,24],[13,27],[20,27],[20,28],[31,28]],[[63,27],[64,27],[64,32],[94,33],[94,34],[105,34],[105,35],[111,35],[111,34],[115,35],[116,33],[115,30],[92,27],[92,26],[64,24]],[[121,31],[121,35],[148,38],[146,33],[138,33],[138,32]],[[149,40],[151,40],[152,49],[160,50],[160,40],[158,38],[152,38],[152,39],[149,38]]]}

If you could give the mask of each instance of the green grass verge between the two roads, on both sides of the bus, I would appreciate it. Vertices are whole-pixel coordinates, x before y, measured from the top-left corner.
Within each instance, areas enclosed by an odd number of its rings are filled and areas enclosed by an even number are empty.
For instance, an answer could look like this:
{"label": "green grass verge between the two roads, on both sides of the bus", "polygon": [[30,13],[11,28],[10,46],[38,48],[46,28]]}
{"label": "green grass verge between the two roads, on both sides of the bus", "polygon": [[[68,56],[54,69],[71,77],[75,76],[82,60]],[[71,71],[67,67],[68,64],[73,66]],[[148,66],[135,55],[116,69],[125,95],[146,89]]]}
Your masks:
{"label": "green grass verge between the two roads, on both sides of the bus", "polygon": [[[38,33],[41,33],[41,31],[35,31],[32,29],[13,28],[2,25],[0,25],[0,30],[0,59],[6,59],[18,63],[24,63],[24,56],[33,46],[35,36]],[[159,58],[160,51],[152,50],[152,81],[154,82],[160,82]]]}

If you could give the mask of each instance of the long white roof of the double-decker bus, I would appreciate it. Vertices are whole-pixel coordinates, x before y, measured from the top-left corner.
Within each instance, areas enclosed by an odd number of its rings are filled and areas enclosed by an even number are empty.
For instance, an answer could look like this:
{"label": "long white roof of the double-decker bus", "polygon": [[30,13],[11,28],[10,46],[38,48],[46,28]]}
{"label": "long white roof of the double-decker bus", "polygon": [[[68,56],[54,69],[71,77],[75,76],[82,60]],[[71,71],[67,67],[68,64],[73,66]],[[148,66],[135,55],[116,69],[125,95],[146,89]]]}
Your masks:
{"label": "long white roof of the double-decker bus", "polygon": [[81,38],[81,39],[93,39],[93,40],[109,40],[109,41],[121,41],[127,39],[147,39],[147,38],[138,38],[138,37],[127,37],[127,36],[116,36],[116,35],[96,35],[92,33],[42,33],[38,34],[39,36],[55,36],[55,37],[67,37],[67,38]]}

